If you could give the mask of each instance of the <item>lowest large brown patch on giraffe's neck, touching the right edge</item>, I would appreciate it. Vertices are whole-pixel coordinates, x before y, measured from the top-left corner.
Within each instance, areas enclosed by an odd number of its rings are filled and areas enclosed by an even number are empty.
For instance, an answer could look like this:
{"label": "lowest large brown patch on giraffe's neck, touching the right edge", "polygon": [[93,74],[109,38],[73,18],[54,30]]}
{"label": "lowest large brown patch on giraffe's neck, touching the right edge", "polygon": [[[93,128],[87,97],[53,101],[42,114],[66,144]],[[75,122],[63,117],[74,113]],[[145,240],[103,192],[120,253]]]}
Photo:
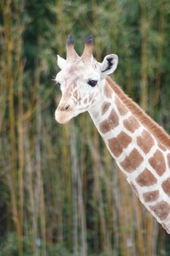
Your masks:
{"label": "lowest large brown patch on giraffe's neck, touching the right edge", "polygon": [[166,201],[163,201],[163,200],[160,203],[157,203],[155,206],[150,206],[150,209],[161,220],[166,219],[169,216],[169,213],[170,213],[169,204],[166,203]]}

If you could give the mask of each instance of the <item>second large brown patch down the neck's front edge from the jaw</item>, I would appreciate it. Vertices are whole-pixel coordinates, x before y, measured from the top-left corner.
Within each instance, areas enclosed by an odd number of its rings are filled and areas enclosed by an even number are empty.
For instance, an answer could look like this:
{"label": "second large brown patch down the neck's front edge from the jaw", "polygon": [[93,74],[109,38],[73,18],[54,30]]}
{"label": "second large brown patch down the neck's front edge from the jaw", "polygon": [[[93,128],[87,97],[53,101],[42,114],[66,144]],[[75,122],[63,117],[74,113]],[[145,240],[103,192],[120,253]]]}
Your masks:
{"label": "second large brown patch down the neck's front edge from the jaw", "polygon": [[117,138],[112,138],[108,140],[108,142],[112,154],[114,154],[115,157],[119,157],[123,152],[123,148],[127,148],[128,144],[131,143],[131,137],[125,132],[120,132],[120,134],[117,135]]}

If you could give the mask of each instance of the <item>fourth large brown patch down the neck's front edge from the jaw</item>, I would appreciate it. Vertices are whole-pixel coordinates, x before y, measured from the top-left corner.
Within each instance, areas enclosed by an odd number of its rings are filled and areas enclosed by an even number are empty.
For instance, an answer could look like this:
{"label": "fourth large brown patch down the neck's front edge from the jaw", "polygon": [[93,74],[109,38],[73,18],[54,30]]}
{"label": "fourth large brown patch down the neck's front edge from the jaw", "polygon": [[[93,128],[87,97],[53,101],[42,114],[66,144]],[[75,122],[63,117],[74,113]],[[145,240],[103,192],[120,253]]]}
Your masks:
{"label": "fourth large brown patch down the neck's front edge from the jaw", "polygon": [[136,178],[136,182],[141,186],[151,186],[157,182],[155,176],[152,175],[150,170],[145,168],[141,174]]}

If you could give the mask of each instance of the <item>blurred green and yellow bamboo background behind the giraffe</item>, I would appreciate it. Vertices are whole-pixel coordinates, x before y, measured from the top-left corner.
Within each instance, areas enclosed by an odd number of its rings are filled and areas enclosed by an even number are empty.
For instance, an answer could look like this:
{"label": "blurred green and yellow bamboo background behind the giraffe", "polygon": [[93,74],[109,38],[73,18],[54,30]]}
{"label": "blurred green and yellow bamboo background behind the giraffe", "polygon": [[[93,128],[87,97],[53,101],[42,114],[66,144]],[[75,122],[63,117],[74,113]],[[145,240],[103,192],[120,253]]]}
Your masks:
{"label": "blurred green and yellow bamboo background behind the giraffe", "polygon": [[0,255],[170,255],[90,116],[55,122],[69,34],[116,53],[112,78],[170,134],[169,0],[1,0]]}

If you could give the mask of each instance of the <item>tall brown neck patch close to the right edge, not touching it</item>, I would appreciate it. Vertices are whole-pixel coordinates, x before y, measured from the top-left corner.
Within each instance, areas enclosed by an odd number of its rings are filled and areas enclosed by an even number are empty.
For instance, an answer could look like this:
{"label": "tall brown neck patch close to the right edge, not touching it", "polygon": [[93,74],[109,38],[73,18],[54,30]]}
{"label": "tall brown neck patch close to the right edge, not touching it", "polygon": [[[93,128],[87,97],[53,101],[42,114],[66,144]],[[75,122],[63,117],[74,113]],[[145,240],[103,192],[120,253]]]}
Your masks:
{"label": "tall brown neck patch close to the right edge, not touching it", "polygon": [[153,156],[149,159],[149,162],[159,176],[162,176],[166,171],[166,162],[160,150],[155,151],[155,154],[153,154]]}

